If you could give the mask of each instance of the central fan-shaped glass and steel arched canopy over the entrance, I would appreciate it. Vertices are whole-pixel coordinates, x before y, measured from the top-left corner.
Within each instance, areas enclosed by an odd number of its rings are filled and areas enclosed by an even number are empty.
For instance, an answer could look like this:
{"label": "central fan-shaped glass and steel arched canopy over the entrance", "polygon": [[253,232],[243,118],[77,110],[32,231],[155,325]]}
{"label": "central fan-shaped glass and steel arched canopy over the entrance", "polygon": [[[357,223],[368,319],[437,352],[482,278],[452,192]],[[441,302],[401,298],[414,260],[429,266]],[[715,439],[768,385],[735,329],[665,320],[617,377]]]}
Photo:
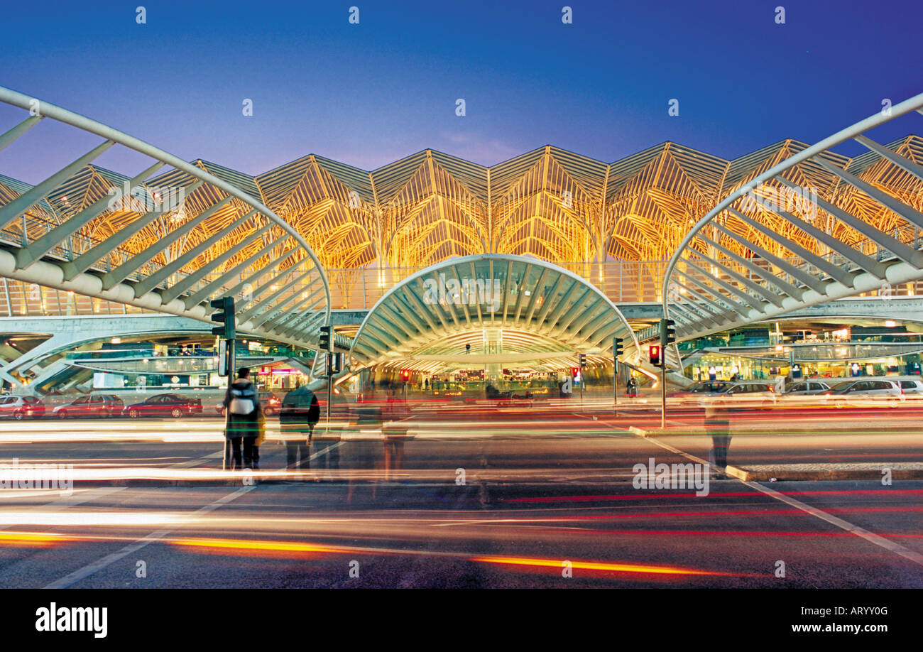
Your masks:
{"label": "central fan-shaped glass and steel arched canopy over the entrance", "polygon": [[434,343],[485,328],[532,337],[536,359],[543,351],[557,356],[542,348],[548,342],[609,356],[615,336],[626,339],[626,352],[640,350],[617,306],[580,276],[544,260],[480,254],[432,265],[385,293],[356,332],[352,367],[413,356],[426,346],[432,354]]}

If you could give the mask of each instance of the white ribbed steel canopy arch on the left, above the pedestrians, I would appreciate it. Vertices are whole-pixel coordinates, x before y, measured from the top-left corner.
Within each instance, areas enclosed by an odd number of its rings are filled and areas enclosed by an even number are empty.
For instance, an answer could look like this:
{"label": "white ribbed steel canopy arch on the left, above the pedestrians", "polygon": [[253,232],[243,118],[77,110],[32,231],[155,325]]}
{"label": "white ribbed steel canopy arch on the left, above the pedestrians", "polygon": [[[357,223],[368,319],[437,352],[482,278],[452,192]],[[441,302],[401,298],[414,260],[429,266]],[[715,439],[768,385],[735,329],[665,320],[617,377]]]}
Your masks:
{"label": "white ribbed steel canopy arch on the left, above the pedestrians", "polygon": [[[210,298],[237,296],[238,330],[317,346],[317,327],[330,323],[327,275],[305,238],[269,207],[234,183],[83,115],[4,87],[0,102],[30,111],[30,117],[0,135],[0,150],[46,117],[104,139],[38,185],[18,184],[18,197],[0,205],[0,232],[22,220],[21,242],[12,250],[0,250],[0,276],[209,323]],[[115,144],[154,163],[125,178],[124,187],[113,182],[107,193],[98,193],[102,196],[77,211],[56,211],[54,193]],[[178,210],[151,202],[151,196],[157,196],[145,185],[163,167],[173,172],[156,178],[179,184],[178,194],[185,198]],[[154,210],[134,210],[136,203]],[[124,227],[104,239],[80,236],[83,247],[77,251],[75,235],[101,215],[112,214],[114,205],[127,207]],[[186,205],[200,210],[186,214]],[[28,218],[34,211],[56,219],[36,233]],[[151,242],[149,237],[126,248],[128,240],[158,221],[165,232],[161,238]],[[220,226],[211,230],[210,221]],[[193,234],[199,239],[190,245]],[[216,247],[221,242],[225,247]],[[170,248],[172,260],[165,253]]]}

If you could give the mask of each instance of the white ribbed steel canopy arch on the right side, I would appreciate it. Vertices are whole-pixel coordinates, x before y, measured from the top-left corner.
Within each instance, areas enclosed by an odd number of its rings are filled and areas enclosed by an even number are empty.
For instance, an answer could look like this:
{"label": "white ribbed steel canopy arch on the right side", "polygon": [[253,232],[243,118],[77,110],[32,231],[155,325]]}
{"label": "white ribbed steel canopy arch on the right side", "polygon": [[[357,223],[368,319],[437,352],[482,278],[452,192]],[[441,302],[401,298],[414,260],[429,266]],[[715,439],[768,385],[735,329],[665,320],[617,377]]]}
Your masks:
{"label": "white ribbed steel canopy arch on the right side", "polygon": [[[921,107],[923,93],[846,127],[742,184],[695,223],[663,280],[664,314],[676,321],[677,340],[923,279],[923,166],[863,135],[901,115],[923,114]],[[831,149],[848,139],[869,151],[844,168]],[[909,190],[876,184],[870,171],[900,175]],[[826,179],[835,196],[828,201],[803,187],[809,174]],[[780,218],[815,247],[780,233]],[[668,354],[677,365],[677,349]]]}

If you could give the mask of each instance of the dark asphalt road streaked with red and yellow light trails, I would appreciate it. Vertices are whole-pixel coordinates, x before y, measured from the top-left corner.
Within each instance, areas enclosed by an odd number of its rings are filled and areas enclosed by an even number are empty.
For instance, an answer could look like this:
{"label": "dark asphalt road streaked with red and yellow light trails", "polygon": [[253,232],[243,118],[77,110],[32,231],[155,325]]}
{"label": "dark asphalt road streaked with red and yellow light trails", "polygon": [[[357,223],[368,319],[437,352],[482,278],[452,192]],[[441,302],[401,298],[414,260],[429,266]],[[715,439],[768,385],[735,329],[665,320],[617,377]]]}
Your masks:
{"label": "dark asphalt road streaked with red and yellow light trails", "polygon": [[[818,418],[735,415],[730,461],[923,461],[900,410]],[[0,586],[923,587],[923,481],[681,489],[670,467],[658,488],[635,465],[695,464],[709,440],[691,412],[629,431],[646,420],[443,406],[400,442],[343,430],[332,468],[316,441],[288,475],[273,429],[258,474],[222,473],[214,418],[3,423],[0,463],[76,482],[0,490]]]}

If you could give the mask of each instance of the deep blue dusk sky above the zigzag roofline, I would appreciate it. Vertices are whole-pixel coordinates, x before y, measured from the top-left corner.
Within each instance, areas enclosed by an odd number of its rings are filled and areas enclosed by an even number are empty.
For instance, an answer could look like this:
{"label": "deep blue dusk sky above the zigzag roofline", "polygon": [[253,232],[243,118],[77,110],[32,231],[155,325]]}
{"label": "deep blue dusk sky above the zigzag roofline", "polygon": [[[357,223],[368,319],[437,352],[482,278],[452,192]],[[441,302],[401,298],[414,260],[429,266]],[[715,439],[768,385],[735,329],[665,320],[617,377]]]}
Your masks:
{"label": "deep blue dusk sky above the zigzag roofline", "polygon": [[[310,152],[374,169],[546,143],[604,162],[664,140],[734,158],[923,91],[921,19],[919,0],[22,2],[4,9],[0,85],[250,174]],[[0,132],[23,116],[0,107]],[[923,133],[923,116],[898,122],[875,136]],[[35,182],[95,142],[47,123],[0,172]]]}

